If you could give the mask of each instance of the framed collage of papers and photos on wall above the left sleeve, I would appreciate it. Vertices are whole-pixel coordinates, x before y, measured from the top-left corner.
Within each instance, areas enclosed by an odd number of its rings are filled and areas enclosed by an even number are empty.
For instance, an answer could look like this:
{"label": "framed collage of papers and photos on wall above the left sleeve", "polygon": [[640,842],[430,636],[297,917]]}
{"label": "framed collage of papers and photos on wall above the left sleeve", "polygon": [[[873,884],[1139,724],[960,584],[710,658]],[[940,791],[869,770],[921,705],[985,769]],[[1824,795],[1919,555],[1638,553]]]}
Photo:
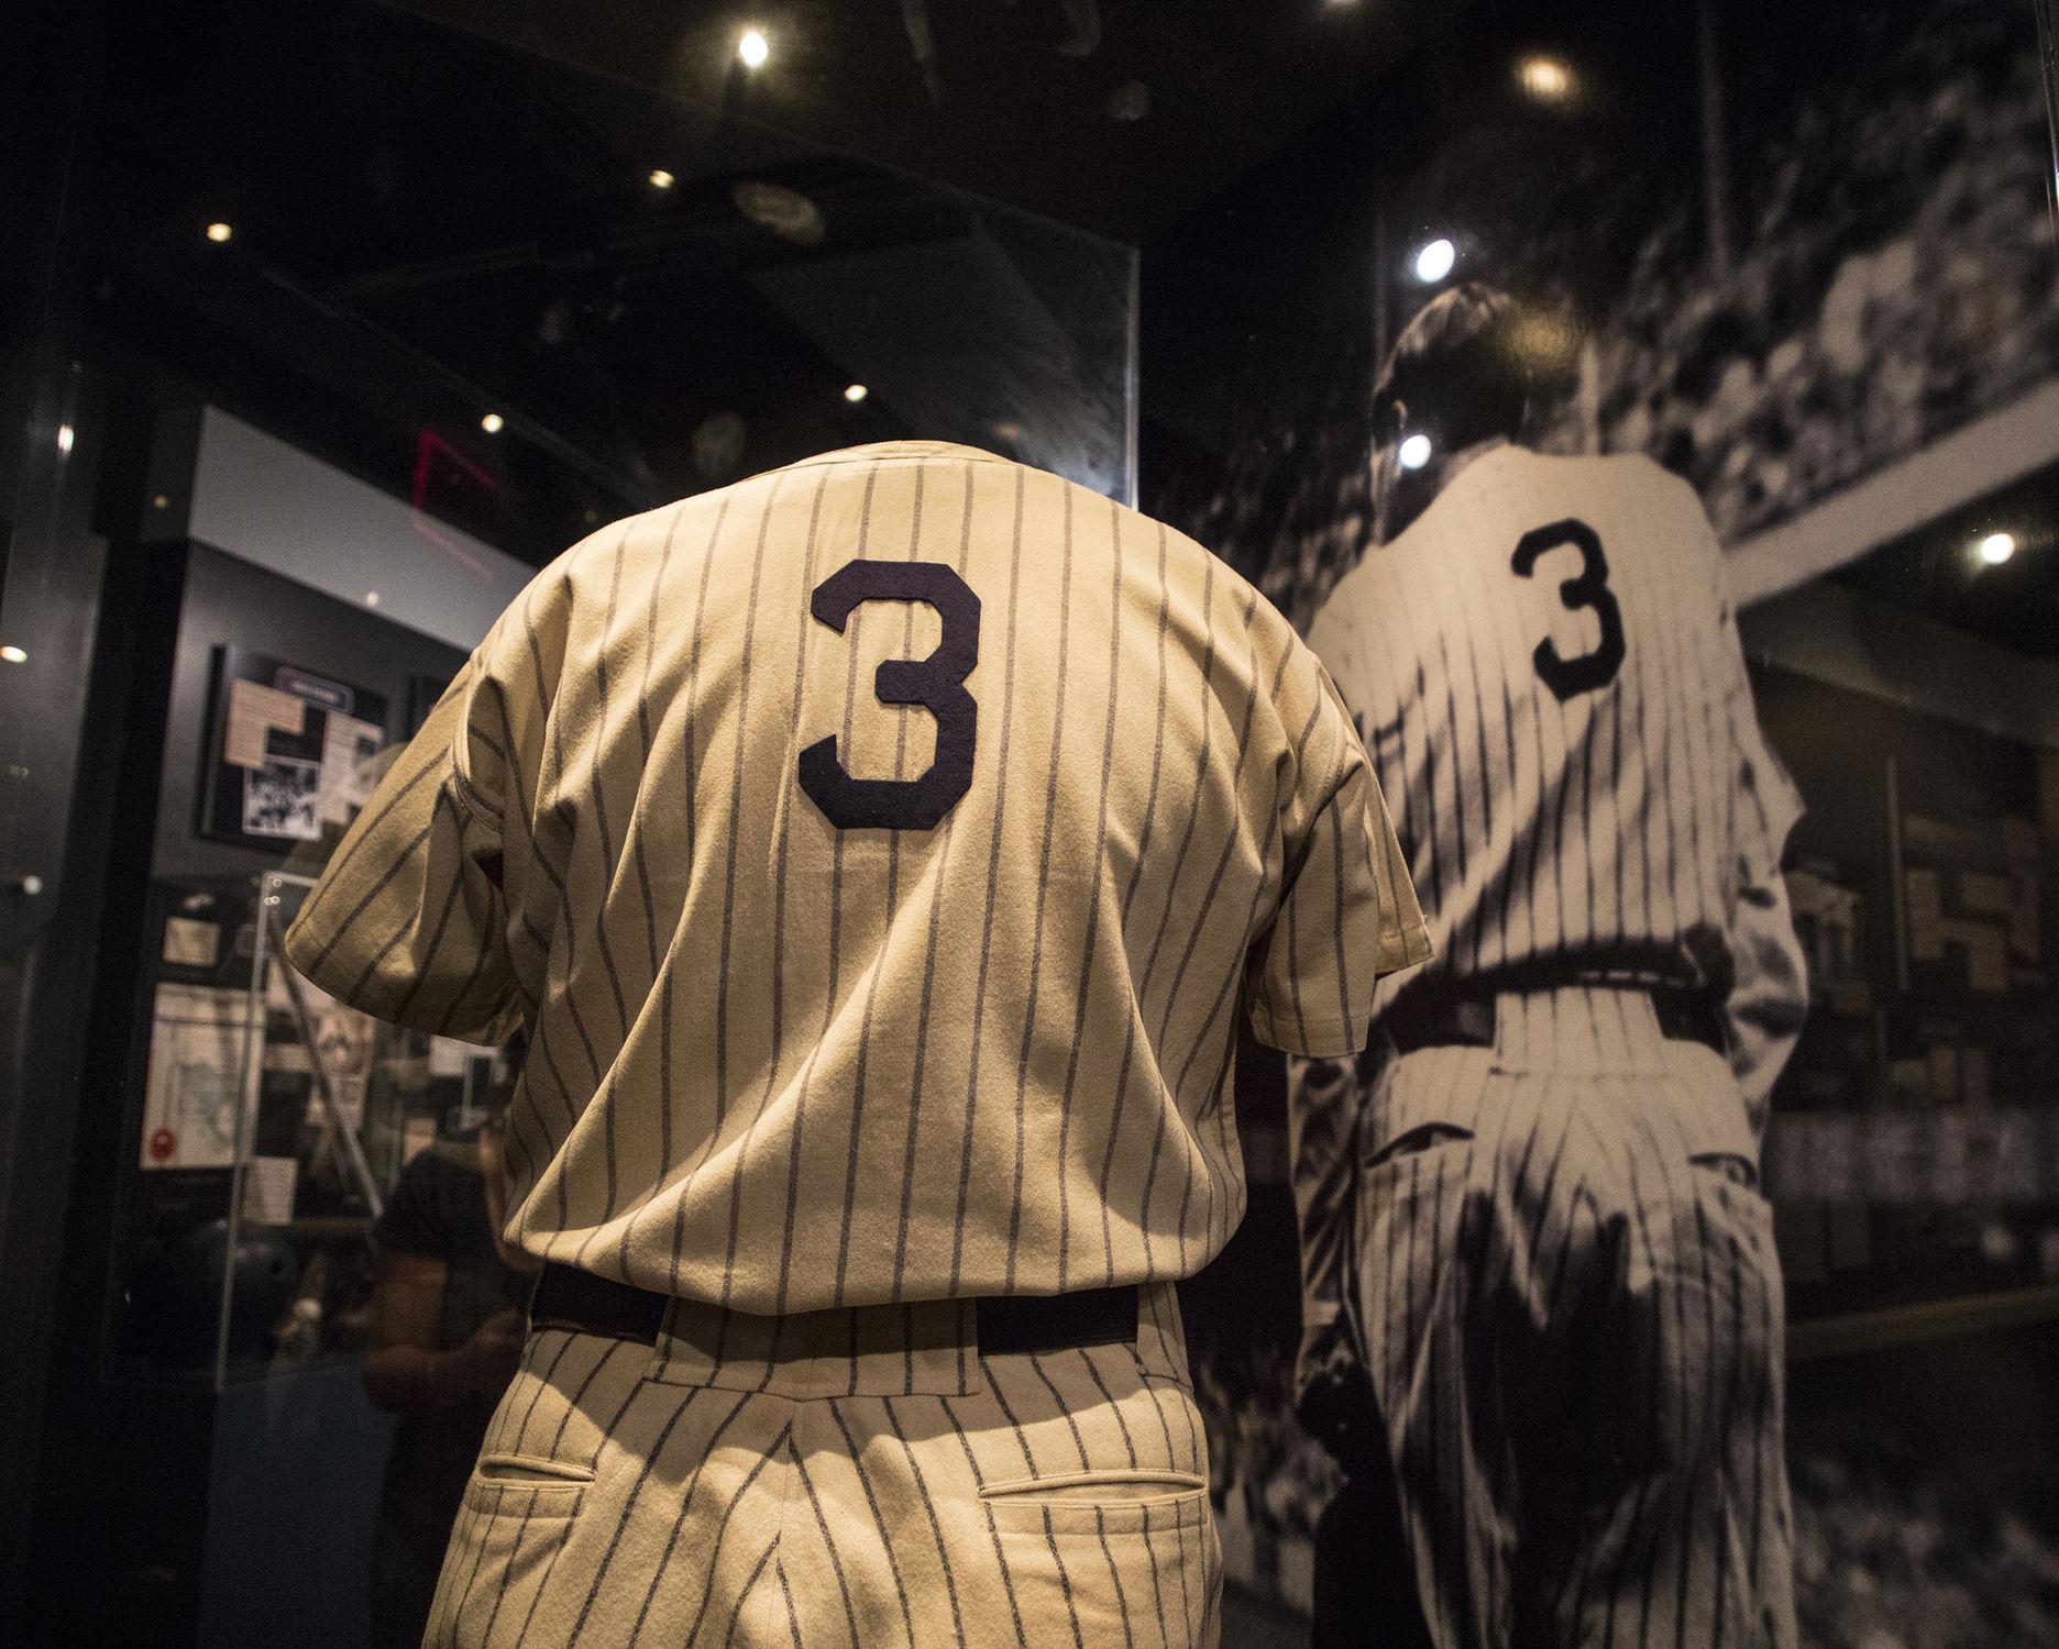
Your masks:
{"label": "framed collage of papers and photos on wall above the left sleeve", "polygon": [[200,834],[284,852],[364,803],[385,694],[264,653],[216,648]]}

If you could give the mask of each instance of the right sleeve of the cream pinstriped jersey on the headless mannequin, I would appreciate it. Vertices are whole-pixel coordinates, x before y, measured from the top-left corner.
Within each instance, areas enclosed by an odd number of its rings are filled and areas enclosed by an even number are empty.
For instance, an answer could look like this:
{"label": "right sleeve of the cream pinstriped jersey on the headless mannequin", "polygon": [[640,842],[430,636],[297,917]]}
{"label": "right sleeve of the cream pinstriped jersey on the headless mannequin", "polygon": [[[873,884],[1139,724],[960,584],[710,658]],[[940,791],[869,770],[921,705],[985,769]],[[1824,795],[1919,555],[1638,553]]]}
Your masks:
{"label": "right sleeve of the cream pinstriped jersey on the headless mannequin", "polygon": [[1285,889],[1250,1015],[1260,1042],[1334,1058],[1365,1046],[1373,986],[1427,961],[1431,941],[1345,702],[1314,655],[1305,667],[1314,704],[1285,801]]}

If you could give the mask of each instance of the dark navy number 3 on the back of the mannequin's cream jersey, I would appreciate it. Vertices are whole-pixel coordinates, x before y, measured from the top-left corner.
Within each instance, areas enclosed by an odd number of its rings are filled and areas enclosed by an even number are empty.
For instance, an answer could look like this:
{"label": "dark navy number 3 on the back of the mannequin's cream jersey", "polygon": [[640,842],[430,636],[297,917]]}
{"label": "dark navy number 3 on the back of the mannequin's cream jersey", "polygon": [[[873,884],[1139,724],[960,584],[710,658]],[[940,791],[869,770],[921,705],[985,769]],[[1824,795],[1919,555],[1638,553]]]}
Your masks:
{"label": "dark navy number 3 on the back of the mannequin's cream jersey", "polygon": [[933,830],[972,788],[980,706],[966,677],[980,661],[980,597],[947,566],[857,560],[815,585],[809,611],[838,634],[865,601],[927,601],[943,638],[927,659],[885,659],[873,675],[881,704],[920,704],[937,718],[937,760],[918,778],[852,778],[836,739],[801,751],[801,788],[838,830]]}

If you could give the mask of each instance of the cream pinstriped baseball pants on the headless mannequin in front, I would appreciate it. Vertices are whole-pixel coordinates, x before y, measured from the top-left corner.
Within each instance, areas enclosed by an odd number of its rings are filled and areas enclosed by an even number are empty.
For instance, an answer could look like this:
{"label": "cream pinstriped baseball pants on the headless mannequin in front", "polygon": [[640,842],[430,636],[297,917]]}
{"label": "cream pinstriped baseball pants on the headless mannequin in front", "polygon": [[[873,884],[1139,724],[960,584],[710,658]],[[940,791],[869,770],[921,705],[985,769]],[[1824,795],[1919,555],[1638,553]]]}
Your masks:
{"label": "cream pinstriped baseball pants on the headless mannequin in front", "polygon": [[488,1429],[426,1645],[1215,1645],[1178,1301],[1135,1344],[982,1357],[968,1301],[657,1346],[544,1328]]}

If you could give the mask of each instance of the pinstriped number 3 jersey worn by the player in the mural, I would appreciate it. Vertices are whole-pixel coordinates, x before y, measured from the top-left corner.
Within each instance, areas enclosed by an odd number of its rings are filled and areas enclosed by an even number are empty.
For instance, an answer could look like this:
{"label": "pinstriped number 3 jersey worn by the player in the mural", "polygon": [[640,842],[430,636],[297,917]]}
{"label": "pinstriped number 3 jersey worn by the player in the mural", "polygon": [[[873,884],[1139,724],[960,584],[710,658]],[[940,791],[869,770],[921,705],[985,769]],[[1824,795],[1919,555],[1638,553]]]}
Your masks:
{"label": "pinstriped number 3 jersey worn by the player in the mural", "polygon": [[1802,803],[1686,482],[1489,451],[1338,583],[1310,644],[1431,912],[1417,978],[1713,986],[1763,1122],[1806,1007],[1779,883]]}

